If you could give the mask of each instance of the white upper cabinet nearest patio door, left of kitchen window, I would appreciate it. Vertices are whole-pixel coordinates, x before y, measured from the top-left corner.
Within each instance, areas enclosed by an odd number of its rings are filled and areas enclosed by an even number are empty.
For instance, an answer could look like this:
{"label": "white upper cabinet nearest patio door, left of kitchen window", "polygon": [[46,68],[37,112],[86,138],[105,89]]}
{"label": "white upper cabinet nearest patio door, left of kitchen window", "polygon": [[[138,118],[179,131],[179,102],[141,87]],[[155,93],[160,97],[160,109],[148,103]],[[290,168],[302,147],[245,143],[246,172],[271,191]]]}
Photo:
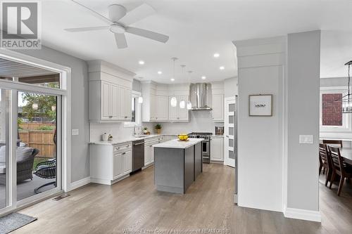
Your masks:
{"label": "white upper cabinet nearest patio door, left of kitchen window", "polygon": [[134,73],[101,60],[88,64],[89,119],[93,122],[131,121]]}

